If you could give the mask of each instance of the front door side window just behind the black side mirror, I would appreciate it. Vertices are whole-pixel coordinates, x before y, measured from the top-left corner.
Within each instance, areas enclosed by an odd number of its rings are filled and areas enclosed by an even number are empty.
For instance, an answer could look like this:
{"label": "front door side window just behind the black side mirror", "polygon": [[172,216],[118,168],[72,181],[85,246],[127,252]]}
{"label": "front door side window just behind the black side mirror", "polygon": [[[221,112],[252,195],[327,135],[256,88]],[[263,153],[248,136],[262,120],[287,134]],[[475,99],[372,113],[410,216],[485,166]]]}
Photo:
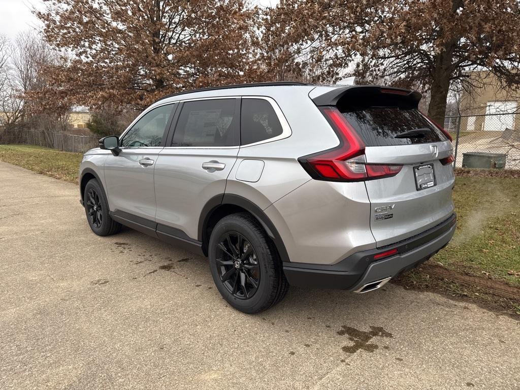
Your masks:
{"label": "front door side window just behind the black side mirror", "polygon": [[165,105],[147,112],[141,117],[121,140],[126,147],[161,146],[166,124],[173,113],[174,105]]}

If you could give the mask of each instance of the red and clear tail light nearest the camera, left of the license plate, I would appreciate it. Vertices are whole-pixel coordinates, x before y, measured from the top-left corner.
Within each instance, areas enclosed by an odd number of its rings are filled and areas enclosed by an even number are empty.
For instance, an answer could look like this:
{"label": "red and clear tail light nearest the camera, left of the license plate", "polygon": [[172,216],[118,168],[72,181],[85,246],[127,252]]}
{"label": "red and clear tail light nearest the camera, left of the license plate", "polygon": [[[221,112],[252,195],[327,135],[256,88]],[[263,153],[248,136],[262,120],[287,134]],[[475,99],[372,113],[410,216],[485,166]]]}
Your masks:
{"label": "red and clear tail light nearest the camera, left of the license plate", "polygon": [[335,108],[321,112],[340,138],[340,145],[298,159],[307,173],[317,180],[362,181],[397,175],[402,165],[367,164],[365,144],[355,129]]}

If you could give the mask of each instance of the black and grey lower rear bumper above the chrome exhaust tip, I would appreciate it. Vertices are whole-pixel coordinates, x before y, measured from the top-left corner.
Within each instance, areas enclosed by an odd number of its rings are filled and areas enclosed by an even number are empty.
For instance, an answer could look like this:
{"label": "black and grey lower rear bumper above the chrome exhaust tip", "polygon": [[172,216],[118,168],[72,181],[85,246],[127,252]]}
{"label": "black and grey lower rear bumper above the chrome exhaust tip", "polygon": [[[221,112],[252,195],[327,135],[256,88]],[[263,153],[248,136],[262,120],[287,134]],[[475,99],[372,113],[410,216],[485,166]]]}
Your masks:
{"label": "black and grey lower rear bumper above the chrome exhaust tip", "polygon": [[[334,265],[283,263],[289,284],[306,288],[360,291],[366,284],[394,278],[417,267],[444,248],[453,237],[457,217],[451,215],[444,222],[409,239],[369,251],[355,253]],[[374,261],[376,253],[397,249],[397,254]]]}

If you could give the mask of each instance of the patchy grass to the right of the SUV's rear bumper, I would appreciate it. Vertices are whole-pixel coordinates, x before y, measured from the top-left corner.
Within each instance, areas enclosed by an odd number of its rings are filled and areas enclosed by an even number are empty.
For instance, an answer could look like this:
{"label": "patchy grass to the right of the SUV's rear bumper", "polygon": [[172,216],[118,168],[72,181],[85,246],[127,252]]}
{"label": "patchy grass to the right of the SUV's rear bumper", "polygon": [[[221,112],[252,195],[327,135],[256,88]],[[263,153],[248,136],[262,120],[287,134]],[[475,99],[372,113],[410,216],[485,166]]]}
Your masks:
{"label": "patchy grass to the right of the SUV's rear bumper", "polygon": [[520,179],[457,177],[453,201],[455,236],[431,261],[520,287]]}

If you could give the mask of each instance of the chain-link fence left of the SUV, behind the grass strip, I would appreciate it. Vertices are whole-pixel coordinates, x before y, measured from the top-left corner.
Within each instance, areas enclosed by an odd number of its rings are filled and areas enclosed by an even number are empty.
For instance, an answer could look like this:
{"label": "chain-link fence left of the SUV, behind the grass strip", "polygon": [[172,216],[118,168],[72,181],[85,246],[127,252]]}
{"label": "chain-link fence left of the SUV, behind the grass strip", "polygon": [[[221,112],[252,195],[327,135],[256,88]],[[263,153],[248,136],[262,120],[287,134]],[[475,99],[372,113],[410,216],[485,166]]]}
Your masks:
{"label": "chain-link fence left of the SUV, behind the grass strip", "polygon": [[43,132],[38,130],[4,130],[0,131],[0,144],[28,144],[45,146],[66,152],[84,153],[98,146],[98,137],[75,135],[59,132]]}

